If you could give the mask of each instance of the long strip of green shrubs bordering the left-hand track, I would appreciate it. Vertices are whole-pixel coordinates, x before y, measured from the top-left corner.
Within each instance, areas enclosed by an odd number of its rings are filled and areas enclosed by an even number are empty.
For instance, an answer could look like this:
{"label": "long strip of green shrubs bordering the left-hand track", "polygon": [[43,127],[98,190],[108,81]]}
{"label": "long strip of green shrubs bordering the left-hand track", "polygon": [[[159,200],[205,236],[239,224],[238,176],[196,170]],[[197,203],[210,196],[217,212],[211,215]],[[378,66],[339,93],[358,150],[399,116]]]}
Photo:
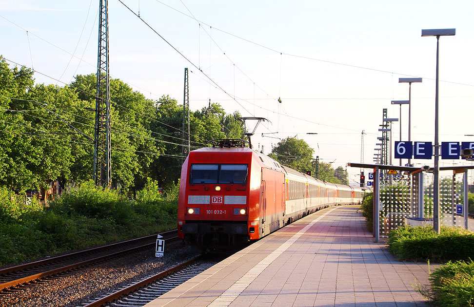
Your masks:
{"label": "long strip of green shrubs bordering the left-hand track", "polygon": [[149,181],[138,199],[128,200],[88,182],[43,209],[38,202],[20,205],[0,189],[0,266],[176,228],[178,192],[172,190],[165,199]]}

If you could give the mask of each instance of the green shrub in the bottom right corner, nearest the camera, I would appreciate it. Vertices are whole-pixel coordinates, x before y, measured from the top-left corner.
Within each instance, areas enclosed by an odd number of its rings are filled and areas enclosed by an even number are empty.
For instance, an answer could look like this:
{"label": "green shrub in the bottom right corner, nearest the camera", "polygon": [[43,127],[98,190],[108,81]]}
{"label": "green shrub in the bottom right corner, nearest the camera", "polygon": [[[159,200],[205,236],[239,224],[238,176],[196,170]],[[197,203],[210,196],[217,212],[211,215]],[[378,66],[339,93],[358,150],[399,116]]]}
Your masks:
{"label": "green shrub in the bottom right corner, nearest the camera", "polygon": [[474,262],[448,262],[430,274],[429,297],[439,306],[474,306]]}

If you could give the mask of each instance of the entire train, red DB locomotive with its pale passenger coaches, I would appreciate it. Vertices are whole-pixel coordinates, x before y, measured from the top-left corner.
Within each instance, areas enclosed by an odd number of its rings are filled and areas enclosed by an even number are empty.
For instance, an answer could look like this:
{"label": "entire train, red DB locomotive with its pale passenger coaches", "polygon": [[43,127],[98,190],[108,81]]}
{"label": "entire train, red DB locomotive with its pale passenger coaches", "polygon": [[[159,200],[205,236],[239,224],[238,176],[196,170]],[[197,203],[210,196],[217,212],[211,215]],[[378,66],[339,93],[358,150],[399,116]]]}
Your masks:
{"label": "entire train, red DB locomotive with its pale passenger coaches", "polygon": [[360,204],[362,195],[282,166],[243,140],[216,140],[184,161],[178,235],[200,249],[237,246],[319,209]]}

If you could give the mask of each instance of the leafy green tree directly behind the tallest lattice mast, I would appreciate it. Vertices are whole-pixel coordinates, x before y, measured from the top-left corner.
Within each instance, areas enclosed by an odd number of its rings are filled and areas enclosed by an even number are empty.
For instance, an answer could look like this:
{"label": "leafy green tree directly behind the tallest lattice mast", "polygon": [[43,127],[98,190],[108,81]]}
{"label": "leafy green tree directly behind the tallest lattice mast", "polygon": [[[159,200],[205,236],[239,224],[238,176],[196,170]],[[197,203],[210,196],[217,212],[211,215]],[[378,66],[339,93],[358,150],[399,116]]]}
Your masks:
{"label": "leafy green tree directly behind the tallest lattice mast", "polygon": [[[78,115],[84,124],[84,133],[94,135],[96,104],[96,75],[78,75],[72,87],[83,101],[88,114]],[[119,79],[110,80],[110,113],[112,144],[112,179],[128,191],[140,188],[150,172],[153,155],[159,153],[154,136],[151,135],[151,121],[156,117],[154,101],[133,91]],[[85,117],[85,118],[83,118]],[[80,121],[81,119],[79,119]],[[72,168],[74,177],[80,181],[90,178],[92,174],[92,151],[89,145],[74,148],[80,158]],[[87,162],[90,161],[90,162]],[[83,163],[83,165],[80,165]]]}

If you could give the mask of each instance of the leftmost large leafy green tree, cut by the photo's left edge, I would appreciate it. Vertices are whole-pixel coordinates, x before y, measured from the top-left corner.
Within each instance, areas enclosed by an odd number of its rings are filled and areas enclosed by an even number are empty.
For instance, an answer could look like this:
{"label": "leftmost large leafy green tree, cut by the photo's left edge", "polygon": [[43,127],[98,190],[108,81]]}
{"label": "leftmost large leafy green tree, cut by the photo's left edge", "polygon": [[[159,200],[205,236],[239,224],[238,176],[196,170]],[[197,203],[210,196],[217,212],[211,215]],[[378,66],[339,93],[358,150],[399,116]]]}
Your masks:
{"label": "leftmost large leafy green tree, cut by the photo's left edge", "polygon": [[1,57],[0,96],[0,185],[22,192],[70,178],[73,136],[51,112],[71,119],[77,96],[67,87],[34,85],[32,70],[10,69]]}

